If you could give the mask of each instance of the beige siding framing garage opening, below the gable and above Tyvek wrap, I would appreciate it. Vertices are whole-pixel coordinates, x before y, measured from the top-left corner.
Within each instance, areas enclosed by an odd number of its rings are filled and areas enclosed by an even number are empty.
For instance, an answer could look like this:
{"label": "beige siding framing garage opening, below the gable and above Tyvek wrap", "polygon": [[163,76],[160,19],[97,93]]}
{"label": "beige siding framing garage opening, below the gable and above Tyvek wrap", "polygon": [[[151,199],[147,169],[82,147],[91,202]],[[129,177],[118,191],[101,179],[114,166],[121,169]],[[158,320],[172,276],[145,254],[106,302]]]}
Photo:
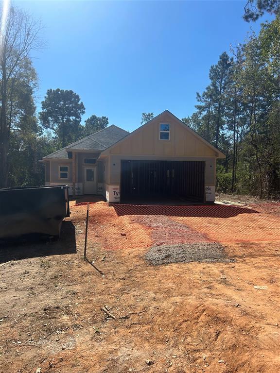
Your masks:
{"label": "beige siding framing garage opening, below the gable and above Tyvek wrap", "polygon": [[121,182],[121,159],[148,159],[148,160],[173,160],[173,161],[205,161],[205,185],[215,185],[215,158],[208,157],[157,157],[151,156],[131,156],[131,155],[111,155],[111,175],[109,185],[120,185]]}

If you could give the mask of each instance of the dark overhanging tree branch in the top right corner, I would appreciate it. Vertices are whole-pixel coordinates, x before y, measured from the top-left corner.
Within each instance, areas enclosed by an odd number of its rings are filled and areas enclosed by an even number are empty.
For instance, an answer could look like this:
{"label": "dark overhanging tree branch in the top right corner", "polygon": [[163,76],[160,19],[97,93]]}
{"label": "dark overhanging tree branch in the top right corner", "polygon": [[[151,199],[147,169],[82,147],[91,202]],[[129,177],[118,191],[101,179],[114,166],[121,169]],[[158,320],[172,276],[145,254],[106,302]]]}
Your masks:
{"label": "dark overhanging tree branch in the top right corner", "polygon": [[247,22],[256,21],[264,12],[279,15],[280,0],[247,0],[244,11],[243,18]]}

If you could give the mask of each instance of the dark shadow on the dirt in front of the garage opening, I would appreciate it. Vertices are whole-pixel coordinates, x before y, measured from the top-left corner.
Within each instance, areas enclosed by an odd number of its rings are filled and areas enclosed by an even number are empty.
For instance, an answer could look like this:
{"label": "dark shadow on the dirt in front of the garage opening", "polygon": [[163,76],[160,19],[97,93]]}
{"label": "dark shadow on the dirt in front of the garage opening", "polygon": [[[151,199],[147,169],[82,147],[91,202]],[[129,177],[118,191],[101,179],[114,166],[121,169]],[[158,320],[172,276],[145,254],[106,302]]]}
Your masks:
{"label": "dark shadow on the dirt in front of the garage opening", "polygon": [[118,216],[123,215],[167,215],[196,218],[231,218],[239,214],[258,214],[259,212],[246,207],[231,205],[187,205],[159,206],[137,204],[110,204]]}

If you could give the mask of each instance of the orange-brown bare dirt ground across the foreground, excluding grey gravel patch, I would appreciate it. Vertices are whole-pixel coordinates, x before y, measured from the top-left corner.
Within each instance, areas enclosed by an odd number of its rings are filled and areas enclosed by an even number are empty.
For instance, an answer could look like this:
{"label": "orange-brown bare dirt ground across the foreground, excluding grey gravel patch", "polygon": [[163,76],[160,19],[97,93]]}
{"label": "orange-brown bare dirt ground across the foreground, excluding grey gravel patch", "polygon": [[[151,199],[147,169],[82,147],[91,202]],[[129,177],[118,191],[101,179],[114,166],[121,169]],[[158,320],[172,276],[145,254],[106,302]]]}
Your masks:
{"label": "orange-brown bare dirt ground across the foreground, excluding grey gravel patch", "polygon": [[[0,373],[280,371],[279,204],[194,217],[91,203],[85,261],[74,203],[58,241],[0,247]],[[145,260],[200,242],[233,262]]]}

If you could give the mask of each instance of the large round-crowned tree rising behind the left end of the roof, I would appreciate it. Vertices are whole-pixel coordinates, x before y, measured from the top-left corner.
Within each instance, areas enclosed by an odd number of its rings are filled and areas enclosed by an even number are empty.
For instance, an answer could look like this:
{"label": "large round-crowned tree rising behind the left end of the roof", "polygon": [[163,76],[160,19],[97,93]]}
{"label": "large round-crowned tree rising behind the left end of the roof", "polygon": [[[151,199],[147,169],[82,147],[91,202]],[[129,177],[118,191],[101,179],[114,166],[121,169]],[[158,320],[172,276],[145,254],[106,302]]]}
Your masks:
{"label": "large round-crowned tree rising behind the left end of the roof", "polygon": [[64,148],[68,143],[78,140],[83,132],[80,124],[85,106],[80,96],[72,90],[48,89],[39,113],[41,124],[54,131],[59,145]]}

